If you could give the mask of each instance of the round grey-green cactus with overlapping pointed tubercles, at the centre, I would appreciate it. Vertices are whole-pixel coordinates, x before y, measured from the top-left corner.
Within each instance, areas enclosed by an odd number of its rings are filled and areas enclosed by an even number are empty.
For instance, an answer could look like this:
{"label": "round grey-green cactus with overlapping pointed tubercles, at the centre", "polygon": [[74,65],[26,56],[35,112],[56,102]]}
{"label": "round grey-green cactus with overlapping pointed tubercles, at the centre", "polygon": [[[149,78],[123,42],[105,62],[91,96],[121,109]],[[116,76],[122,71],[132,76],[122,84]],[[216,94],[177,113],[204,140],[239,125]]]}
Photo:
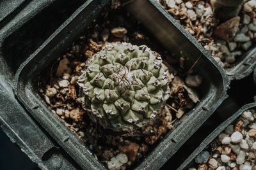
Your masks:
{"label": "round grey-green cactus with overlapping pointed tubercles, at the centre", "polygon": [[81,72],[83,107],[105,129],[132,132],[147,125],[170,96],[168,68],[145,45],[108,43]]}

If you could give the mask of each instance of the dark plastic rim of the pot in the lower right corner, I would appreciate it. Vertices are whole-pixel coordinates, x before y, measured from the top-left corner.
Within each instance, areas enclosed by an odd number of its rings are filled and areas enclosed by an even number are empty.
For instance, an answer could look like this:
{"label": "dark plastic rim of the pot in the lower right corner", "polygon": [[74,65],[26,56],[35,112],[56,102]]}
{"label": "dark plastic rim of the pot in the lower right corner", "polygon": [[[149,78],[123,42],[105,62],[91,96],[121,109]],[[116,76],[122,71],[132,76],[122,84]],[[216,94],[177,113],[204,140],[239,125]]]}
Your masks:
{"label": "dark plastic rim of the pot in the lower right corner", "polygon": [[193,166],[195,164],[193,160],[195,157],[201,153],[206,146],[208,146],[217,136],[225,130],[228,125],[232,124],[234,120],[236,120],[237,117],[239,117],[244,111],[249,110],[249,109],[255,109],[256,108],[256,103],[250,103],[244,105],[241,109],[239,109],[234,115],[232,115],[230,118],[225,120],[221,125],[219,125],[207,138],[204,139],[204,141],[196,148],[196,150],[189,155],[188,159],[184,161],[184,163],[177,169],[177,170],[182,170],[182,169],[188,169],[189,167]]}

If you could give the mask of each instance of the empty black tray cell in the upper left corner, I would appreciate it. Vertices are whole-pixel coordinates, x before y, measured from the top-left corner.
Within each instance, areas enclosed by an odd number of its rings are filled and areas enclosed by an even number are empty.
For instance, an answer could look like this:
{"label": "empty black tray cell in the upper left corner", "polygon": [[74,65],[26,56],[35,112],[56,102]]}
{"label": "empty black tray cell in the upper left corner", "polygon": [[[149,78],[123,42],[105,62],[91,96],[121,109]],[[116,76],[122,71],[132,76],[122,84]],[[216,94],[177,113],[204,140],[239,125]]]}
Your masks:
{"label": "empty black tray cell in the upper left corner", "polygon": [[11,73],[14,74],[20,64],[83,3],[82,0],[54,1],[4,38],[1,43],[1,57],[6,60]]}

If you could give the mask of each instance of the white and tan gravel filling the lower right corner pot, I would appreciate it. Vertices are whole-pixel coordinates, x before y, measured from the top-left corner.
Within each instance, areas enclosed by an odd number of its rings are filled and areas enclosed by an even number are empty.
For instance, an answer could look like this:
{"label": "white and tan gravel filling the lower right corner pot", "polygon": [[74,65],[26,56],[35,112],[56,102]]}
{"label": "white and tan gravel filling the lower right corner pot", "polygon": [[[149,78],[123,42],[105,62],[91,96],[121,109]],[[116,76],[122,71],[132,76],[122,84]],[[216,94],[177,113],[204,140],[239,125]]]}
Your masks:
{"label": "white and tan gravel filling the lower right corner pot", "polygon": [[[208,160],[198,162],[197,156],[195,158],[196,166],[190,168],[198,170],[256,170],[256,130],[251,128],[255,127],[255,117],[255,110],[244,111],[198,155],[203,157],[205,153],[208,153]],[[248,124],[244,125],[246,121]],[[228,138],[231,138],[230,143],[223,142],[228,141]]]}

